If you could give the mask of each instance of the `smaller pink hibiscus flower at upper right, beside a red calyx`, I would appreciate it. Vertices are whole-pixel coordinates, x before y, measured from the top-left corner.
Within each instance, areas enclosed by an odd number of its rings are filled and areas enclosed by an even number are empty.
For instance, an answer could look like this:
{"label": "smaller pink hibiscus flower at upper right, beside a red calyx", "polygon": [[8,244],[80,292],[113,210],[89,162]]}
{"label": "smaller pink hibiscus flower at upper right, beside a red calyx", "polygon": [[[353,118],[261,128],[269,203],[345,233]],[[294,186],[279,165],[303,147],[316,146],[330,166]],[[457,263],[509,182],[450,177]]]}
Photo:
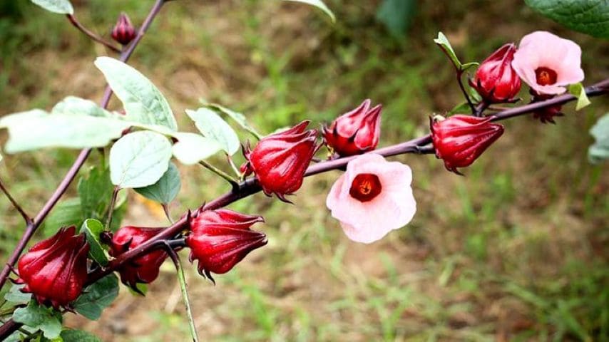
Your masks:
{"label": "smaller pink hibiscus flower at upper right, beside a red calyx", "polygon": [[561,94],[564,86],[583,81],[581,48],[546,31],[522,38],[512,68],[538,94]]}

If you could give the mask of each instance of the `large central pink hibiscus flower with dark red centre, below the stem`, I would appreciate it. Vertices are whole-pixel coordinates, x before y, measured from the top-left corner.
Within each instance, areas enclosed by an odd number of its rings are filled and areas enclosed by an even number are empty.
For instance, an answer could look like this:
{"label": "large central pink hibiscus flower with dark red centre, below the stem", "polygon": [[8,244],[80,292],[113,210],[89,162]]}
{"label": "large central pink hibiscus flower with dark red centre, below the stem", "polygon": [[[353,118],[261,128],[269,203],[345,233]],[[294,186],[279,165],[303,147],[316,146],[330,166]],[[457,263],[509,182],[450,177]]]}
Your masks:
{"label": "large central pink hibiscus flower with dark red centre, below the stem", "polygon": [[369,244],[414,217],[411,181],[408,165],[374,153],[360,155],[332,185],[326,205],[349,239]]}

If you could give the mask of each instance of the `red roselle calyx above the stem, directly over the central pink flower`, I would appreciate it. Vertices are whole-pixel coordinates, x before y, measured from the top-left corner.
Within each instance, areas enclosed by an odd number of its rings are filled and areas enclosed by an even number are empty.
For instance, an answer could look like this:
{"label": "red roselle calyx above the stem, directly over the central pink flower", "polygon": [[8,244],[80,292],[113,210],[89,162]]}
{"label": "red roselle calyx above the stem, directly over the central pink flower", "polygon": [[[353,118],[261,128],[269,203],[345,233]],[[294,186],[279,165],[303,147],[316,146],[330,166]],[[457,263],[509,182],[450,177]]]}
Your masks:
{"label": "red roselle calyx above the stem, directly over the central pink flower", "polygon": [[342,157],[374,150],[381,135],[381,110],[382,105],[370,109],[370,100],[364,100],[359,107],[339,116],[329,127],[324,126],[326,145]]}

